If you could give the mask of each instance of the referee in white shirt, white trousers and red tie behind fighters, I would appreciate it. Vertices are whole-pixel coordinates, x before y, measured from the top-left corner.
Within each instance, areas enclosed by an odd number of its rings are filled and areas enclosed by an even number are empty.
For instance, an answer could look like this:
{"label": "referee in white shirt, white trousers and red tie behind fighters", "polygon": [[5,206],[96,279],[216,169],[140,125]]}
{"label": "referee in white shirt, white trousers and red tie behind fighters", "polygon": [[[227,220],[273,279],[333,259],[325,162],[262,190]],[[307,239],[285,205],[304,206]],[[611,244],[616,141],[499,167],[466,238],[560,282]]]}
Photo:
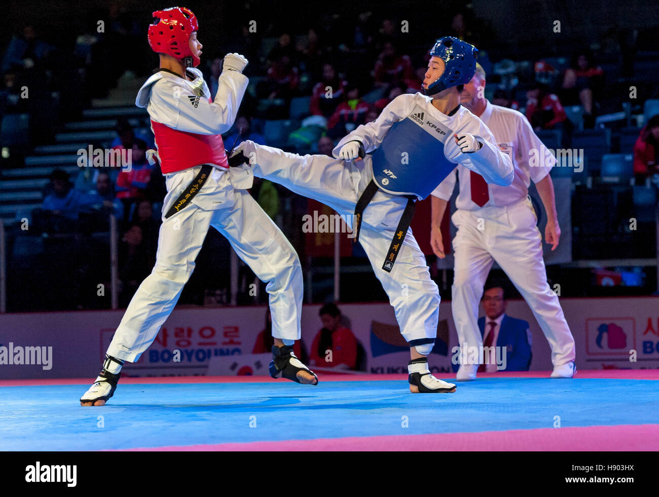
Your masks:
{"label": "referee in white shirt, white trousers and red tie behind fighters", "polygon": [[[542,259],[542,236],[530,202],[530,180],[536,184],[548,215],[545,240],[558,246],[561,230],[556,217],[554,184],[550,170],[556,160],[553,155],[529,167],[532,150],[546,157],[546,147],[534,134],[529,121],[513,109],[492,105],[483,96],[485,72],[476,65],[476,74],[461,93],[461,103],[492,130],[502,151],[507,152],[515,168],[511,186],[487,184],[473,171],[457,166],[460,192],[457,211],[451,221],[457,226],[453,240],[455,278],[451,309],[459,338],[459,346],[480,347],[478,303],[492,263],[496,261],[515,284],[538,320],[552,348],[554,371],[552,378],[575,375],[575,342],[558,301],[547,283]],[[545,162],[549,164],[546,165]],[[444,241],[440,223],[455,187],[455,172],[432,192],[431,244],[434,253],[444,258]],[[471,349],[468,349],[471,350]],[[465,357],[468,357],[465,354]],[[457,380],[475,380],[478,364],[461,364]]]}

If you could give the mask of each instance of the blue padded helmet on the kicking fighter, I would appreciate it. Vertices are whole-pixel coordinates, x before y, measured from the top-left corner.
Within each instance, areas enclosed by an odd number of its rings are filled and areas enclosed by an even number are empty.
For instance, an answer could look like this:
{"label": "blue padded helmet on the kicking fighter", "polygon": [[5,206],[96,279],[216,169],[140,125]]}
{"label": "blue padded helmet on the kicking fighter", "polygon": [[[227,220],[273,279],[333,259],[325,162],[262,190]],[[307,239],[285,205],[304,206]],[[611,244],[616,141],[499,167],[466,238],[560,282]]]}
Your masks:
{"label": "blue padded helmet on the kicking fighter", "polygon": [[426,95],[434,95],[451,86],[467,84],[476,73],[476,56],[474,45],[455,36],[444,36],[435,42],[430,50],[431,57],[440,57],[444,61],[444,72],[437,80],[424,89]]}

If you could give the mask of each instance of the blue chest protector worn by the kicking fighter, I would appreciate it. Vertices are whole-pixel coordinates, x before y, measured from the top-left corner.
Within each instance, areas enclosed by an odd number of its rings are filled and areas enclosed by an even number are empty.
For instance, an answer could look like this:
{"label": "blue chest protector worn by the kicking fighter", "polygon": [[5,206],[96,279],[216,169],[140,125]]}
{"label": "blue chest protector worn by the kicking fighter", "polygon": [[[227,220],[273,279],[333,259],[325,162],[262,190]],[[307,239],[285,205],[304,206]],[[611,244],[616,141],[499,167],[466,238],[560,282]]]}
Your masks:
{"label": "blue chest protector worn by the kicking fighter", "polygon": [[374,180],[385,192],[422,200],[455,169],[444,155],[444,143],[453,131],[427,114],[416,106],[389,128],[372,153]]}

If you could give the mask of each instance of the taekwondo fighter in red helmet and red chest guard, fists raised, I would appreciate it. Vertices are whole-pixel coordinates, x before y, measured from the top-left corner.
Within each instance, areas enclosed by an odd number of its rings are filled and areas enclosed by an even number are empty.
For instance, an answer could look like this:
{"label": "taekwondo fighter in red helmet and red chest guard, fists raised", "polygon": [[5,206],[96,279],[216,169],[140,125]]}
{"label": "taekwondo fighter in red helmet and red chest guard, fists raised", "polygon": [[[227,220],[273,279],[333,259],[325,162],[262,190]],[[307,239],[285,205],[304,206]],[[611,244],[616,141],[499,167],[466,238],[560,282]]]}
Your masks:
{"label": "taekwondo fighter in red helmet and red chest guard, fists raised", "polygon": [[103,369],[80,398],[104,405],[113,396],[125,361],[135,362],[152,344],[192,274],[209,226],[227,240],[259,278],[268,282],[272,311],[270,374],[304,384],[318,378],[293,353],[300,338],[302,269],[295,250],[246,192],[248,168],[229,169],[221,133],[233,125],[247,88],[247,60],[224,57],[212,98],[200,63],[198,22],[189,9],[154,12],[148,39],[160,66],[137,95],[156,136],[160,167],[167,178],[156,265],[140,285],[105,354]]}

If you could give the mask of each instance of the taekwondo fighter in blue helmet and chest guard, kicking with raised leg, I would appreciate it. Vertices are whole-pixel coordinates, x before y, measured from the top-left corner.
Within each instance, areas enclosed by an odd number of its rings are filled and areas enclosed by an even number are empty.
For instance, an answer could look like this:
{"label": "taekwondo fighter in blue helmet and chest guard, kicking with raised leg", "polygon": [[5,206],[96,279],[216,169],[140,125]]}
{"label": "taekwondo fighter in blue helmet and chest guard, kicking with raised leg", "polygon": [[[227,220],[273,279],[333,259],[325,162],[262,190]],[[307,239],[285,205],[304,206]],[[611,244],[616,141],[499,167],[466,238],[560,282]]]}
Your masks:
{"label": "taekwondo fighter in blue helmet and chest guard, kicking with raised leg", "polygon": [[507,186],[513,180],[511,160],[492,132],[459,103],[457,87],[474,75],[475,52],[457,38],[438,39],[424,79],[426,95],[393,99],[374,122],[339,142],[336,159],[250,141],[229,158],[229,165],[251,167],[255,176],[325,203],[352,224],[410,346],[414,393],[455,392],[455,384],[436,379],[428,368],[440,294],[409,229],[415,201],[430,195],[457,164],[486,182]]}

